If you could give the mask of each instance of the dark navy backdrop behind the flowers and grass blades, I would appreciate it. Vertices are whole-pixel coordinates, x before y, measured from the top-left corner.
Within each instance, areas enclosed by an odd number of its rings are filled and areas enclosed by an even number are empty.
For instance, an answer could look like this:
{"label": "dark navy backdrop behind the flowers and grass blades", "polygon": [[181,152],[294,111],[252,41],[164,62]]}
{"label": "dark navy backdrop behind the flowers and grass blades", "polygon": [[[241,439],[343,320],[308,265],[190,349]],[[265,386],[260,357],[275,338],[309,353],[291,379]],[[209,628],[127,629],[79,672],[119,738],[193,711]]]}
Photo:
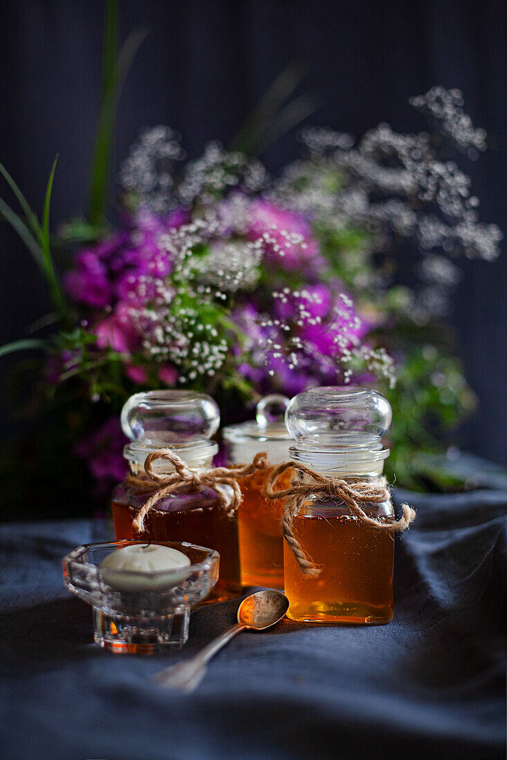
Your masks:
{"label": "dark navy backdrop behind the flowers and grass blades", "polygon": [[[307,122],[356,135],[381,121],[397,131],[420,129],[408,98],[434,84],[460,87],[465,109],[489,135],[489,151],[466,166],[481,216],[507,231],[506,8],[501,0],[123,0],[122,39],[139,25],[149,34],[120,102],[115,171],[145,125],[177,128],[189,157],[210,139],[227,145],[276,75],[298,59],[308,65],[301,91],[312,90],[320,102]],[[0,160],[38,209],[59,153],[53,229],[85,210],[103,15],[99,0],[19,0],[2,10]],[[263,160],[275,170],[297,154],[292,132]],[[49,311],[49,300],[30,255],[5,224],[0,253],[3,344],[22,337]],[[459,442],[505,462],[507,256],[493,264],[465,261],[463,268],[451,321],[480,409]],[[2,372],[8,364],[2,360]],[[7,435],[16,424],[2,412]]]}

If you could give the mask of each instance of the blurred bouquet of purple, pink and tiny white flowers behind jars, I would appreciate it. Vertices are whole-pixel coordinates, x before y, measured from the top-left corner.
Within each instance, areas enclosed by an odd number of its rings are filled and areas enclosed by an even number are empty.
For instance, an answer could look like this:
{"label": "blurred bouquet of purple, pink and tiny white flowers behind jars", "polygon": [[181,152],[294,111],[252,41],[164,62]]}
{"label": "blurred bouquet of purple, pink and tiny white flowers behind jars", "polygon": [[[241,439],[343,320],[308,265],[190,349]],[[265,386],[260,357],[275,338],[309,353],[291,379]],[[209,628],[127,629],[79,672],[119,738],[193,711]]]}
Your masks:
{"label": "blurred bouquet of purple, pink and tiny white flowers behind jars", "polygon": [[480,223],[450,159],[451,147],[470,158],[485,148],[461,93],[434,87],[411,103],[431,133],[382,124],[356,144],[306,128],[304,155],[276,177],[218,143],[186,162],[175,131],[145,130],[120,172],[118,228],[62,231],[74,248],[63,288],[49,240],[54,166],[41,223],[3,170],[27,220],[4,201],[0,211],[42,252],[62,318],[58,332],[14,347],[49,354],[57,435],[97,493],[123,476],[118,417],[132,392],[206,391],[228,423],[268,392],[346,383],[389,398],[398,483],[459,485],[431,457],[475,404],[442,318],[459,256],[493,261],[501,233]]}

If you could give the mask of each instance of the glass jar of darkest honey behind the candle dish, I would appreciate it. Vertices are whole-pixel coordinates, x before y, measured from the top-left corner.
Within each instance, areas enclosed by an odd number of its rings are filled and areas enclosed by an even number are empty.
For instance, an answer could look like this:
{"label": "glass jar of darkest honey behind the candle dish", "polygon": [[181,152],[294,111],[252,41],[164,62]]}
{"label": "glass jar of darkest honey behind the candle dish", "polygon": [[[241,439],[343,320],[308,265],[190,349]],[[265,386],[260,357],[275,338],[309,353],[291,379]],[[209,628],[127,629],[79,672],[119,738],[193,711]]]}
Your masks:
{"label": "glass jar of darkest honey behind the candle dish", "polygon": [[[131,442],[124,448],[132,475],[144,473],[151,451],[170,447],[192,469],[212,467],[218,445],[209,440],[218,429],[220,413],[215,401],[194,391],[148,391],[129,398],[122,410],[123,432]],[[173,465],[159,459],[158,473],[174,472]],[[147,539],[154,542],[187,541],[209,546],[220,554],[220,576],[210,601],[238,596],[241,591],[238,519],[220,506],[213,489],[197,492],[182,486],[164,496],[145,516],[145,530],[138,534],[132,525],[139,509],[151,496],[128,483],[113,491],[112,512],[116,541]]]}

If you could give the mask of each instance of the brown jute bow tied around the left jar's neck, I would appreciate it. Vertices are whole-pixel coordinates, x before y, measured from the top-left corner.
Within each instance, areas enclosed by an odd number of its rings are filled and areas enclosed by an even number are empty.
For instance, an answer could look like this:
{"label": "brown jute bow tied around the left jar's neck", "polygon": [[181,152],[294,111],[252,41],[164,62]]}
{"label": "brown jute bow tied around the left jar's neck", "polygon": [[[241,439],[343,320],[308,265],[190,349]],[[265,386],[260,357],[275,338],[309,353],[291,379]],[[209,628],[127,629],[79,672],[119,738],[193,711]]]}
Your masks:
{"label": "brown jute bow tied around the left jar's neck", "polygon": [[[153,467],[158,459],[165,459],[174,467],[174,473],[159,473]],[[218,496],[218,508],[222,508],[227,515],[234,512],[241,504],[241,489],[238,480],[251,475],[255,470],[264,470],[267,464],[267,454],[260,451],[255,454],[250,464],[238,464],[234,467],[214,467],[212,470],[191,470],[186,462],[171,450],[160,448],[151,451],[145,459],[145,472],[142,475],[129,475],[126,484],[138,493],[152,491],[148,501],[132,521],[132,525],[142,533],[145,528],[145,517],[148,511],[157,502],[164,499],[170,493],[185,486],[190,492],[198,492],[202,488],[210,488]],[[229,486],[229,490],[226,486]]]}

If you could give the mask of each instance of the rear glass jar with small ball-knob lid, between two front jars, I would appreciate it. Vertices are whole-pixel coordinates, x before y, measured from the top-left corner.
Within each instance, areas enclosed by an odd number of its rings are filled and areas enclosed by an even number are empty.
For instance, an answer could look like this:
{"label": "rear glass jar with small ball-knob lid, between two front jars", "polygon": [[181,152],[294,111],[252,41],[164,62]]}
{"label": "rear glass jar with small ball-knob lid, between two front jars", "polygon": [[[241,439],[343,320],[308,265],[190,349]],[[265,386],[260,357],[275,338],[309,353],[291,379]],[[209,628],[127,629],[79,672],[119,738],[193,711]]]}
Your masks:
{"label": "rear glass jar with small ball-knob lid, between two front jars", "polygon": [[[255,420],[230,425],[222,431],[231,464],[250,462],[258,451],[267,451],[269,457],[267,470],[257,470],[240,482],[243,501],[238,510],[238,528],[244,586],[283,588],[283,540],[279,527],[282,505],[267,501],[263,490],[273,467],[289,458],[290,435],[283,421],[288,404],[285,396],[266,396],[257,404]],[[289,486],[289,476],[285,480]]]}

